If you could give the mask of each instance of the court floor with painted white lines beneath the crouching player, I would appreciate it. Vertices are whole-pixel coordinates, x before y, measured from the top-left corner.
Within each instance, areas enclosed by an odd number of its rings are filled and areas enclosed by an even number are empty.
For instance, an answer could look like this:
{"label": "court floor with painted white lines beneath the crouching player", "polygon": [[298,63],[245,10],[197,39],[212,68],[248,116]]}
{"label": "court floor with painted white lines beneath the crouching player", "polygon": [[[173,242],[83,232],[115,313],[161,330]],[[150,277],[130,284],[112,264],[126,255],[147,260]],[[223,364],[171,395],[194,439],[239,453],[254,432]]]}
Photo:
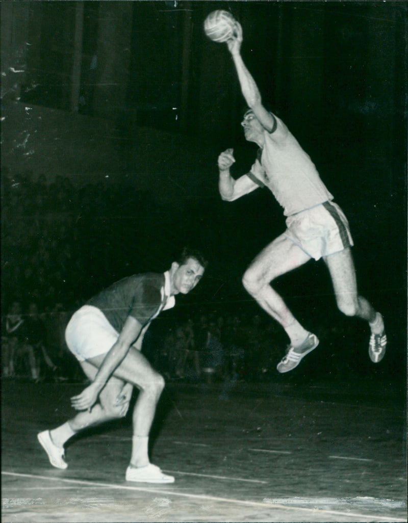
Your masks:
{"label": "court floor with painted white lines beneath the crouching player", "polygon": [[405,384],[279,378],[168,383],[152,433],[165,486],[124,481],[129,414],[54,469],[36,435],[73,415],[84,385],[4,381],[3,523],[406,521]]}

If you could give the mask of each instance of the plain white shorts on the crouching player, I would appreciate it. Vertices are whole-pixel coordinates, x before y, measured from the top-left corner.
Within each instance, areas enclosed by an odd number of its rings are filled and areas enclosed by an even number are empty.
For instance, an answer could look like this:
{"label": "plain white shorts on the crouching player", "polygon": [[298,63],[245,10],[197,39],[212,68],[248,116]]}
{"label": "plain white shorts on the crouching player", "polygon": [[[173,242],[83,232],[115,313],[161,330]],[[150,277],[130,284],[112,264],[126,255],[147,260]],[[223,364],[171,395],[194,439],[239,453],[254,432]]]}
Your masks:
{"label": "plain white shorts on the crouching player", "polygon": [[78,309],[65,329],[66,344],[78,361],[108,353],[118,337],[105,314],[92,305]]}

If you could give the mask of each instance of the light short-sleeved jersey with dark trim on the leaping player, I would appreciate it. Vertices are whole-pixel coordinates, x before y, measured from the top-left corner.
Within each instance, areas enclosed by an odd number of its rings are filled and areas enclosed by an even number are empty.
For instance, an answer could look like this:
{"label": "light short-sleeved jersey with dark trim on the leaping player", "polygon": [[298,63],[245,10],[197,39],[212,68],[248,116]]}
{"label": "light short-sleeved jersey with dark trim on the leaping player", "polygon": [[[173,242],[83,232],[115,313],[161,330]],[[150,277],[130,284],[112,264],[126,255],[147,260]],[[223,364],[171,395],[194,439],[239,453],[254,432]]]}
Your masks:
{"label": "light short-sleeved jersey with dark trim on the leaping player", "polygon": [[272,133],[265,130],[262,154],[248,174],[271,190],[284,208],[285,216],[333,200],[310,156],[303,151],[284,122],[275,118],[276,130]]}

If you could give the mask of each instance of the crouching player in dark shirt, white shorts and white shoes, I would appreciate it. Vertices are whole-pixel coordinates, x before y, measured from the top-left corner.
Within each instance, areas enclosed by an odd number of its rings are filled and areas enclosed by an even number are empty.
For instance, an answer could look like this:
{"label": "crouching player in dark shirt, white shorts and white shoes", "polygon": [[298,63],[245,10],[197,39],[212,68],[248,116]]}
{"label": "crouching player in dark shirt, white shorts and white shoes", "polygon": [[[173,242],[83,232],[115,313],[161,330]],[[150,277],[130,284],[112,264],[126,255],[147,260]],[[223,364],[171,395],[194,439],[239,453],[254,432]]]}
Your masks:
{"label": "crouching player in dark shirt, white shorts and white shoes", "polygon": [[67,468],[64,445],[74,434],[125,416],[136,387],[139,394],[133,410],[126,480],[174,482],[174,477],[163,474],[148,456],[150,428],[165,383],[141,353],[142,341],[150,322],[174,306],[174,296],[194,289],[206,265],[200,253],[184,249],[164,274],[123,278],[73,314],[66,327],[66,343],[92,383],[71,398],[72,406],[80,411],[74,418],[38,434],[54,467]]}

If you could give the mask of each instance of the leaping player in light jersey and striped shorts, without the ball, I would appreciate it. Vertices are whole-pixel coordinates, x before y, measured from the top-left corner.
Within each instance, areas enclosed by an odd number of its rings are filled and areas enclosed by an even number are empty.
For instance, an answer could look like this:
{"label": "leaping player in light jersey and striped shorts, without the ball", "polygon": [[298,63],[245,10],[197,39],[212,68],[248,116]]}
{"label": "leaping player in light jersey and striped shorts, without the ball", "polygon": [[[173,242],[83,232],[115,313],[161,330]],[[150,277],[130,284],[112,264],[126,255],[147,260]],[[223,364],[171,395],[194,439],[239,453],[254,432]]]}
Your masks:
{"label": "leaping player in light jersey and striped shorts, without the ball", "polygon": [[258,87],[241,57],[242,41],[242,27],[236,22],[235,35],[226,44],[249,107],[242,120],[245,139],[255,142],[259,150],[250,172],[237,179],[230,174],[235,161],[233,149],[222,152],[218,158],[219,190],[223,200],[233,201],[258,187],[267,187],[287,217],[287,230],[257,255],[243,276],[248,293],[289,336],[290,345],[277,369],[288,372],[297,367],[319,340],[296,320],[270,282],[312,258],[325,261],[339,310],[369,323],[369,356],[377,363],[386,351],[387,337],[381,314],[357,293],[347,219],[333,202],[309,155],[285,123],[263,106]]}

